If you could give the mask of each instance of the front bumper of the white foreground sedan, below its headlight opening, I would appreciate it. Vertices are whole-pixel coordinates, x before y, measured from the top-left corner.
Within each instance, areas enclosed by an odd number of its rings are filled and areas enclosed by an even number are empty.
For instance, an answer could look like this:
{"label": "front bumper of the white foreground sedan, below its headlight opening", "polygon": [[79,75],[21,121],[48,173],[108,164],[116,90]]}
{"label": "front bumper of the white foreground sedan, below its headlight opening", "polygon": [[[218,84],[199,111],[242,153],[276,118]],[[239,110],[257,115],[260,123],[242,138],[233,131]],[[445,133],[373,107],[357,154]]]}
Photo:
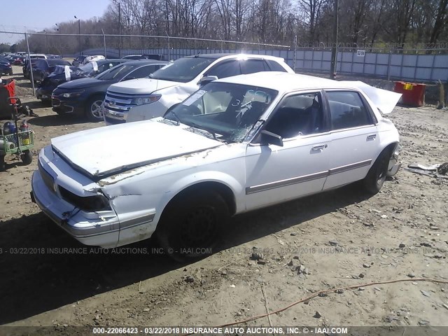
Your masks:
{"label": "front bumper of the white foreground sedan, below its headlight opening", "polygon": [[45,179],[47,181],[44,181],[41,172],[36,170],[31,181],[31,200],[45,215],[82,244],[104,248],[117,246],[120,223],[113,211],[107,211],[104,216],[101,213],[79,211],[76,207],[73,208],[72,204],[62,200],[58,195],[57,186],[52,188],[55,191],[48,188],[51,184],[50,174],[45,176]]}

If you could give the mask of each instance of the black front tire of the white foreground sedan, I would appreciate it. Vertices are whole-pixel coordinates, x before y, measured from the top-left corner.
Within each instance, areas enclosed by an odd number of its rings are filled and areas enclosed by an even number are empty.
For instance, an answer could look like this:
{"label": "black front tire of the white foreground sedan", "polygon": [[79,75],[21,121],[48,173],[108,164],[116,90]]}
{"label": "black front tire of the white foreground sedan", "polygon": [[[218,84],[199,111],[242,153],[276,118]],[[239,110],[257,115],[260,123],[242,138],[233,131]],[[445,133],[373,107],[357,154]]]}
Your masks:
{"label": "black front tire of the white foreground sedan", "polygon": [[156,237],[171,258],[179,262],[211,254],[230,218],[223,197],[204,190],[181,195],[162,214]]}

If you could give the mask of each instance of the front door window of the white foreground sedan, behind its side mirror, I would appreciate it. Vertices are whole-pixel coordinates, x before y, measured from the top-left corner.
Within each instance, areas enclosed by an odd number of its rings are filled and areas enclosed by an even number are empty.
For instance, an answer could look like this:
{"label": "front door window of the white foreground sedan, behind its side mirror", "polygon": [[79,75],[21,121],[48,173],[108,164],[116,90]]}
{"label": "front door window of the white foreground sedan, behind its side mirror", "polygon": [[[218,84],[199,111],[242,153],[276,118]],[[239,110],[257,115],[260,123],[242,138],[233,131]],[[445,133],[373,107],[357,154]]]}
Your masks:
{"label": "front door window of the white foreground sedan, behind its side mirror", "polygon": [[286,139],[323,132],[321,94],[313,92],[286,97],[267,122],[266,130]]}

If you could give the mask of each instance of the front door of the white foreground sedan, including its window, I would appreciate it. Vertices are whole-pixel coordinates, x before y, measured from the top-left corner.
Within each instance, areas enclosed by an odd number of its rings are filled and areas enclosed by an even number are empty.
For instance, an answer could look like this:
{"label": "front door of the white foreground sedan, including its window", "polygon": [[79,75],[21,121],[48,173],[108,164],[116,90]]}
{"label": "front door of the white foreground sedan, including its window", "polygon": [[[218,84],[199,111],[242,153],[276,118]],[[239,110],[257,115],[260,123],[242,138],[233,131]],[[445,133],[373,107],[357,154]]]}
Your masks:
{"label": "front door of the white foreground sedan, including its window", "polygon": [[322,190],[331,142],[325,124],[320,92],[291,94],[279,103],[264,130],[280,135],[283,146],[253,143],[246,151],[247,210]]}

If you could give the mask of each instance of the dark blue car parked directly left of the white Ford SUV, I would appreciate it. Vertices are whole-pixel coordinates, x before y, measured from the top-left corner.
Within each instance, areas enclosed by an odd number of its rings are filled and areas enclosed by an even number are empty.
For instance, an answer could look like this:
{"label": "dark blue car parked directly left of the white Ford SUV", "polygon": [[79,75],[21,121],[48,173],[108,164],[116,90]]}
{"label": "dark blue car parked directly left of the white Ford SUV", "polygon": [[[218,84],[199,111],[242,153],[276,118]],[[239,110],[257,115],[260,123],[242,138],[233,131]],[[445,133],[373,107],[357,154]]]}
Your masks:
{"label": "dark blue car parked directly left of the white Ford SUV", "polygon": [[142,59],[118,64],[95,78],[80,78],[62,83],[52,93],[52,110],[62,116],[86,116],[103,120],[102,104],[109,85],[149,76],[167,62]]}

